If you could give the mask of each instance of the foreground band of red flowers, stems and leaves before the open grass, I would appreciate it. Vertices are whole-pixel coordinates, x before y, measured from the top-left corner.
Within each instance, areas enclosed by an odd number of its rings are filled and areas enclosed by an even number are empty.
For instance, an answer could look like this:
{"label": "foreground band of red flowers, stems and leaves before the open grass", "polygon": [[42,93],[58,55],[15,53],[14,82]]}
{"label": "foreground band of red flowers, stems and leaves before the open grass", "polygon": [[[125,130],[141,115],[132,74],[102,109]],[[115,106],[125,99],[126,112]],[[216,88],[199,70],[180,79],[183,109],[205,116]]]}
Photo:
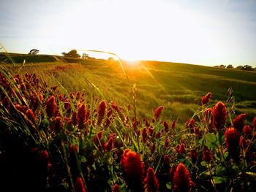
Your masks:
{"label": "foreground band of red flowers, stems and leaves before the open grass", "polygon": [[234,120],[232,91],[215,107],[207,94],[179,129],[162,119],[163,106],[151,122],[132,115],[135,105],[125,112],[104,98],[49,87],[36,74],[1,69],[0,77],[1,191],[255,188],[256,118],[249,125],[244,115]]}

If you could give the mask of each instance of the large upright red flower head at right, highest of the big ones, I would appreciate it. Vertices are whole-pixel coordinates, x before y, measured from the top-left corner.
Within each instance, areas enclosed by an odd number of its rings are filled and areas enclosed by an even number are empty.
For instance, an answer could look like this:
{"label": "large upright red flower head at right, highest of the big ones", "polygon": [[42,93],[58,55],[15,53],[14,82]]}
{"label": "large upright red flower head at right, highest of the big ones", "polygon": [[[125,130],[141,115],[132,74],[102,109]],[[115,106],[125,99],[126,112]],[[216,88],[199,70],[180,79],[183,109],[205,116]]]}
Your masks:
{"label": "large upright red flower head at right, highest of the big ones", "polygon": [[225,104],[219,101],[213,109],[213,126],[217,128],[217,130],[222,129],[225,126],[225,122],[227,119],[227,110]]}

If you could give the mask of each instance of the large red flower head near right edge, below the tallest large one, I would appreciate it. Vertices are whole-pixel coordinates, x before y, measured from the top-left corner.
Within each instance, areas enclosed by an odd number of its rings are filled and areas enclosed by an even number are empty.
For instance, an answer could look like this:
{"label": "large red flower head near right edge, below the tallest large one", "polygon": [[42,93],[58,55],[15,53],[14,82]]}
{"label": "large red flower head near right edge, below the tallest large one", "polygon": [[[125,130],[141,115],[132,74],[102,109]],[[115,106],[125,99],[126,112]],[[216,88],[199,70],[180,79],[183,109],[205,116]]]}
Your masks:
{"label": "large red flower head near right edge, below the tallest large one", "polygon": [[225,132],[225,142],[230,155],[238,157],[240,134],[236,131],[236,128],[227,128]]}

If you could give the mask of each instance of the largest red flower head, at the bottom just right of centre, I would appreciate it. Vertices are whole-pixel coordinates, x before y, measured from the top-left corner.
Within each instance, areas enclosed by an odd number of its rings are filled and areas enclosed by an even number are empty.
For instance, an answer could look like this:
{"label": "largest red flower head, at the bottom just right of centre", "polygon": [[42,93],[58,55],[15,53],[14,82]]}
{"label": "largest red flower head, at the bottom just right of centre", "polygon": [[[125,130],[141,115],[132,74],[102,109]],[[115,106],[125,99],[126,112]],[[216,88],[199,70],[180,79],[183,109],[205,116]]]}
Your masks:
{"label": "largest red flower head, at the bottom just right of centre", "polygon": [[121,158],[121,166],[127,179],[127,183],[140,185],[144,175],[144,164],[140,160],[140,155],[130,149],[124,150],[124,154]]}

